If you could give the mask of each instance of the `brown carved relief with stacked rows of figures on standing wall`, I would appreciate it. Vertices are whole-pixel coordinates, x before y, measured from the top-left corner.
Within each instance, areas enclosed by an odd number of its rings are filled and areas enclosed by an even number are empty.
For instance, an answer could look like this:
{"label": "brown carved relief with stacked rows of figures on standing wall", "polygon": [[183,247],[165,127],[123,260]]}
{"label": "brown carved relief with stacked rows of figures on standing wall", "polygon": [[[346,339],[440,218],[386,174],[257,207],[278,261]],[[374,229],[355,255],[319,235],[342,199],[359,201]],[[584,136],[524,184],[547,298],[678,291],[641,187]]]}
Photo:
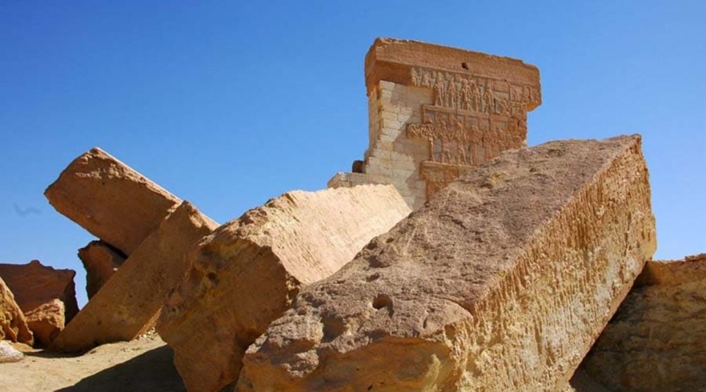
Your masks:
{"label": "brown carved relief with stacked rows of figures on standing wall", "polygon": [[534,87],[474,75],[412,68],[412,84],[429,88],[433,104],[421,107],[422,123],[407,125],[407,137],[426,142],[421,164],[427,197],[505,149],[521,147],[527,135]]}

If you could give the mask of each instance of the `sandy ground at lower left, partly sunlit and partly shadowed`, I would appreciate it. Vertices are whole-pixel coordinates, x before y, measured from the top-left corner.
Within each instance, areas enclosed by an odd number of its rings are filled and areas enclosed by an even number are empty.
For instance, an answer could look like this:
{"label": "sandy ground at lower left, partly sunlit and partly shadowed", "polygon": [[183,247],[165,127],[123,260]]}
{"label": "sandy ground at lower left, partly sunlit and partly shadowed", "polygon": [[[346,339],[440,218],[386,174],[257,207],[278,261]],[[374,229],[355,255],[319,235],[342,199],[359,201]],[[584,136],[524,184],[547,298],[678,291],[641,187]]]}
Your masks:
{"label": "sandy ground at lower left, partly sunlit and partly shadowed", "polygon": [[157,334],[67,357],[15,345],[20,362],[0,364],[2,392],[186,391],[173,353]]}

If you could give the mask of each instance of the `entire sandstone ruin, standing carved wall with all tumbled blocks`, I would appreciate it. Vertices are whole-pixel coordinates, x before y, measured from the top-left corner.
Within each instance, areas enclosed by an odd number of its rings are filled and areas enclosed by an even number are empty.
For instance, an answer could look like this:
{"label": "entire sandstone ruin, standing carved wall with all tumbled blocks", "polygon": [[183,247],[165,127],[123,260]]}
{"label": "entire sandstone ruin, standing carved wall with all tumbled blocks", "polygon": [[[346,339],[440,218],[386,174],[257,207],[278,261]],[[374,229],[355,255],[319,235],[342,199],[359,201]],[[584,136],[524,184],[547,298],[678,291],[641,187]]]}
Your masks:
{"label": "entire sandstone ruin, standing carved wall with all tumbled blocks", "polygon": [[156,329],[191,392],[703,390],[706,257],[651,260],[639,135],[526,147],[539,71],[515,59],[377,39],[365,75],[352,173],[222,225],[101,149],[72,161],[45,195],[97,237],[90,301],[0,264],[0,339]]}

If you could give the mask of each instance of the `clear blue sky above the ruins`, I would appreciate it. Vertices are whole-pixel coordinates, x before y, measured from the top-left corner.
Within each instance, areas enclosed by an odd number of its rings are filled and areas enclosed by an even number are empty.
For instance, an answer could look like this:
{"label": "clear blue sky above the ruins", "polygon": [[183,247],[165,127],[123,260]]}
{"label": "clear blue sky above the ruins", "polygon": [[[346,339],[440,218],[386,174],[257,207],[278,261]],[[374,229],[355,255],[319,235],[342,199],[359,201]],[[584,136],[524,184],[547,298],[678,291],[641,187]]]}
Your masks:
{"label": "clear blue sky above the ruins", "polygon": [[93,146],[219,222],[325,188],[367,147],[378,36],[539,66],[530,145],[641,133],[656,257],[706,252],[705,1],[1,1],[0,262],[85,302],[92,236],[42,192]]}

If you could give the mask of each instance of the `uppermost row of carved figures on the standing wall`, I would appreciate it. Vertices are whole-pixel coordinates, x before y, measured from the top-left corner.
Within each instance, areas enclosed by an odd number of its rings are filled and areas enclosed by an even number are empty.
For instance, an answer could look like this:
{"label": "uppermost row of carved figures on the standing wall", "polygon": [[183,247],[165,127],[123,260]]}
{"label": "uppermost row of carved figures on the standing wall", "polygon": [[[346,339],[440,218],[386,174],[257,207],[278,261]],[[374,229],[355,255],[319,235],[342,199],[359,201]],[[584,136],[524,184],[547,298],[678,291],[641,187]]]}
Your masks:
{"label": "uppermost row of carved figures on the standing wall", "polygon": [[[526,112],[527,104],[539,102],[539,91],[535,87],[506,80],[427,68],[412,68],[411,73],[412,85],[433,90],[435,106],[509,115],[513,106]],[[496,88],[498,85],[503,88]]]}

